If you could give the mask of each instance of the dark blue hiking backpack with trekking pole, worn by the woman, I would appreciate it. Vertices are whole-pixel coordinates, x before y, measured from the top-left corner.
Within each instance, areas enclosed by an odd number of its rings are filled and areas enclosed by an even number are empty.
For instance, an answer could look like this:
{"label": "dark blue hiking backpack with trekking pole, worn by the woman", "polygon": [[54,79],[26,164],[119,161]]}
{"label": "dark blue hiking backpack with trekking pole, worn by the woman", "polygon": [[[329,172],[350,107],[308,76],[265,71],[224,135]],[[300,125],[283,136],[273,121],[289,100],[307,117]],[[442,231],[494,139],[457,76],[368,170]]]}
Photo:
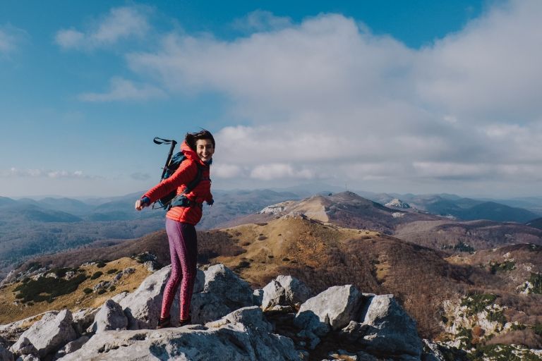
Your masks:
{"label": "dark blue hiking backpack with trekking pole, worn by the woman", "polygon": [[[168,140],[168,139],[162,139],[159,137],[155,137],[153,140],[157,145],[162,144],[171,144],[171,147],[169,147],[169,154],[167,155],[166,164],[162,171],[162,178],[160,181],[164,181],[164,179],[167,179],[175,173],[177,169],[179,169],[179,166],[183,161],[186,160],[186,155],[184,153],[178,152],[174,155],[173,151],[175,148],[175,145],[177,142],[175,140]],[[196,162],[196,166],[198,166],[198,173],[196,174],[195,178],[186,185],[186,188],[183,190],[183,192],[180,195],[177,195],[176,190],[172,190],[169,192],[169,194],[164,195],[164,197],[157,200],[155,203],[152,204],[152,209],[160,209],[164,208],[167,211],[171,209],[171,207],[193,207],[195,205],[200,205],[196,202],[193,202],[189,200],[186,197],[186,193],[190,193],[198,183],[201,181],[201,175],[203,173],[202,166]],[[155,204],[159,204],[159,206],[155,207]]]}

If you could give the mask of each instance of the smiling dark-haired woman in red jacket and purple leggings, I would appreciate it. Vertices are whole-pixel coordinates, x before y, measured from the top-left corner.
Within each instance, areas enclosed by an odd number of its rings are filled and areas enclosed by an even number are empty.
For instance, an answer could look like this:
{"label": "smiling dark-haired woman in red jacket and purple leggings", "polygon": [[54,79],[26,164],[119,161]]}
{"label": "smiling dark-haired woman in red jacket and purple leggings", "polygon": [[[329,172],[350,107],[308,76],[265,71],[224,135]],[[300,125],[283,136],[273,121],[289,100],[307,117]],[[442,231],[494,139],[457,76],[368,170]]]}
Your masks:
{"label": "smiling dark-haired woman in red jacket and purple leggings", "polygon": [[202,170],[201,180],[198,185],[185,194],[187,202],[184,204],[186,206],[171,207],[166,214],[166,231],[171,255],[171,275],[164,289],[158,329],[171,326],[169,309],[179,285],[181,285],[179,326],[191,322],[189,311],[198,257],[198,239],[195,233],[195,225],[201,219],[203,202],[205,201],[210,205],[213,203],[209,167],[212,163],[212,154],[215,153],[215,138],[207,130],[201,130],[198,133],[187,133],[181,145],[181,150],[186,156],[186,160],[179,165],[179,169],[171,177],[155,185],[135,202],[135,209],[140,211],[173,190],[176,190],[176,194],[180,195],[187,184],[196,178],[198,167]]}

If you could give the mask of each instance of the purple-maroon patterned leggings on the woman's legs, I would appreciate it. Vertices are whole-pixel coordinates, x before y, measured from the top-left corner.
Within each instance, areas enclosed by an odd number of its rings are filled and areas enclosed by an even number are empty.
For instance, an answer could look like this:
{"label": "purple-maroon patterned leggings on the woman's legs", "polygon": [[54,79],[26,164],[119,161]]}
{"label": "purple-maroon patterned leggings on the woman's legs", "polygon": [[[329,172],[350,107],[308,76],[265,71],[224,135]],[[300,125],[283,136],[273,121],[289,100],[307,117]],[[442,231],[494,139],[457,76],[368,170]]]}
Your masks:
{"label": "purple-maroon patterned leggings on the woman's legs", "polygon": [[195,272],[197,271],[198,238],[191,224],[166,219],[169,254],[171,255],[171,275],[167,280],[162,298],[160,317],[169,317],[169,309],[175,298],[175,292],[181,285],[181,319],[190,317],[190,301],[194,290]]}

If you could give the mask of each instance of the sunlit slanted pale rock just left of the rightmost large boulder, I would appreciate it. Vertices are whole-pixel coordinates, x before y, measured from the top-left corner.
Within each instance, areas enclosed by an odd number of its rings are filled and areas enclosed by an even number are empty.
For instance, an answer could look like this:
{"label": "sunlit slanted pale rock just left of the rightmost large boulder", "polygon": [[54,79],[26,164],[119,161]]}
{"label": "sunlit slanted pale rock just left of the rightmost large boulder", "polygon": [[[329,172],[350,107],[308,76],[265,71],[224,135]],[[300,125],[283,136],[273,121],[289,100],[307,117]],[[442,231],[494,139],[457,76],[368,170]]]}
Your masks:
{"label": "sunlit slanted pale rock just left of the rightmost large boulder", "polygon": [[323,336],[325,326],[337,330],[356,319],[362,302],[363,295],[355,286],[333,286],[304,302],[294,323]]}

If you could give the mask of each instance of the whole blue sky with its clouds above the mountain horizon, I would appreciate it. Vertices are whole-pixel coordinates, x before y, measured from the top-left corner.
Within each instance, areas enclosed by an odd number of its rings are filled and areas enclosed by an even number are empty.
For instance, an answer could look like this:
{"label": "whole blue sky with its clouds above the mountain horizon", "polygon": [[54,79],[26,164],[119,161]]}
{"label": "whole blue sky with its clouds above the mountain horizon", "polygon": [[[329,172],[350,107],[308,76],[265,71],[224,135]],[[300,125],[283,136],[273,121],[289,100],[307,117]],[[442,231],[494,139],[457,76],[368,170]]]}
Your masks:
{"label": "whole blue sky with its clouds above the mountain horizon", "polygon": [[540,1],[1,1],[0,195],[145,190],[207,128],[215,188],[539,195]]}

